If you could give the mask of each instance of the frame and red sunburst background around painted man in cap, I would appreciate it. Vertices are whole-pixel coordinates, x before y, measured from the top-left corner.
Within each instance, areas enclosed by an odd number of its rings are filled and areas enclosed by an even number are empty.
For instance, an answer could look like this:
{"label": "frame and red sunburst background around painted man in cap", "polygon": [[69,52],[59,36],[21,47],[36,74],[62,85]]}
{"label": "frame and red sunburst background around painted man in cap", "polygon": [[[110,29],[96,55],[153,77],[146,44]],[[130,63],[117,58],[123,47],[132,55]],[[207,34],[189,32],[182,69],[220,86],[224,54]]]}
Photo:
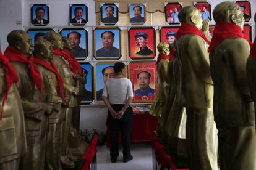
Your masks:
{"label": "frame and red sunburst background around painted man in cap", "polygon": [[[141,55],[143,51],[137,45],[135,34],[146,33],[148,38],[146,41],[146,46],[150,51],[146,51],[145,54],[151,53],[149,55]],[[128,31],[128,43],[129,43],[129,57],[130,59],[154,59],[156,57],[156,31],[153,27],[134,27],[130,28]]]}

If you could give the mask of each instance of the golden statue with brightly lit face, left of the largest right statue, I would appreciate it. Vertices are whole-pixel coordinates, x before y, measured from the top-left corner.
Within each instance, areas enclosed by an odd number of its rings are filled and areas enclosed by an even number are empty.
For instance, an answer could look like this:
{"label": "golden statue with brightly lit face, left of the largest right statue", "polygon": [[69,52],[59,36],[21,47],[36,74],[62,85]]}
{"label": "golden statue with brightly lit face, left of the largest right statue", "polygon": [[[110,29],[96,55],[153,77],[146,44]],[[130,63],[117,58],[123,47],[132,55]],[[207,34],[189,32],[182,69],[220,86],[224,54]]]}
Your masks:
{"label": "golden statue with brightly lit face, left of the largest right statue", "polygon": [[181,27],[176,36],[176,54],[181,68],[181,97],[187,114],[189,169],[218,169],[209,41],[200,30],[203,21],[198,9],[183,7],[178,17]]}

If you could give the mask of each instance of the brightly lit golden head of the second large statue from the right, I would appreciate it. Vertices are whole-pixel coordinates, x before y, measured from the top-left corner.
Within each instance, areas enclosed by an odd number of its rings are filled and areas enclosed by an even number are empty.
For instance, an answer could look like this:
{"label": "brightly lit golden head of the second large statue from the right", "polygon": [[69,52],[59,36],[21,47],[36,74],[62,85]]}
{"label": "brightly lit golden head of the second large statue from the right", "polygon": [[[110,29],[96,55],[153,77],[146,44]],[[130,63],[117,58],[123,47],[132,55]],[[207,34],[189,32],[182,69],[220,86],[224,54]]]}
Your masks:
{"label": "brightly lit golden head of the second large statue from the right", "polygon": [[203,19],[201,12],[192,6],[182,7],[181,11],[178,14],[179,21],[181,23],[189,23],[197,26],[198,29],[202,28]]}

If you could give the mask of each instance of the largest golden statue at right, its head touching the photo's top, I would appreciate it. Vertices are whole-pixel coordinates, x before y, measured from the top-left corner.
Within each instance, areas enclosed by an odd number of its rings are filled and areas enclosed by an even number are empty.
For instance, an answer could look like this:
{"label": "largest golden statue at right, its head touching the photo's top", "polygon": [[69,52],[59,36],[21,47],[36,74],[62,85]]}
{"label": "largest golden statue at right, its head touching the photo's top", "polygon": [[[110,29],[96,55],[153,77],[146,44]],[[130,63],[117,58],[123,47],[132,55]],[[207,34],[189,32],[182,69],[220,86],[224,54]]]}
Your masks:
{"label": "largest golden statue at right, its head touching the photo's top", "polygon": [[[208,51],[220,169],[256,169],[255,109],[248,85],[254,84],[255,77],[247,79],[250,46],[242,33],[243,12],[236,3],[226,1],[215,7],[213,18],[216,26]],[[253,73],[255,62],[248,62],[247,70]]]}

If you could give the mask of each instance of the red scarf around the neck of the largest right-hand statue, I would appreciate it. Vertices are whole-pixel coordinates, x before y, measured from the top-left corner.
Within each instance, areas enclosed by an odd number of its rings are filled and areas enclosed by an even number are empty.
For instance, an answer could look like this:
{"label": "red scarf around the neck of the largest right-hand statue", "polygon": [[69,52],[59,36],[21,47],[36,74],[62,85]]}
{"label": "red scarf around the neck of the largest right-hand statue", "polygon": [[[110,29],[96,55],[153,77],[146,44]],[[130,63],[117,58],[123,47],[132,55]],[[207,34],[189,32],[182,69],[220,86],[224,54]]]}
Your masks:
{"label": "red scarf around the neck of the largest right-hand statue", "polygon": [[[225,39],[229,37],[244,38],[244,33],[240,26],[231,22],[217,22],[213,31],[213,38],[211,39],[210,47],[208,52],[213,51],[218,45],[221,44]],[[248,41],[250,46],[252,42]]]}

